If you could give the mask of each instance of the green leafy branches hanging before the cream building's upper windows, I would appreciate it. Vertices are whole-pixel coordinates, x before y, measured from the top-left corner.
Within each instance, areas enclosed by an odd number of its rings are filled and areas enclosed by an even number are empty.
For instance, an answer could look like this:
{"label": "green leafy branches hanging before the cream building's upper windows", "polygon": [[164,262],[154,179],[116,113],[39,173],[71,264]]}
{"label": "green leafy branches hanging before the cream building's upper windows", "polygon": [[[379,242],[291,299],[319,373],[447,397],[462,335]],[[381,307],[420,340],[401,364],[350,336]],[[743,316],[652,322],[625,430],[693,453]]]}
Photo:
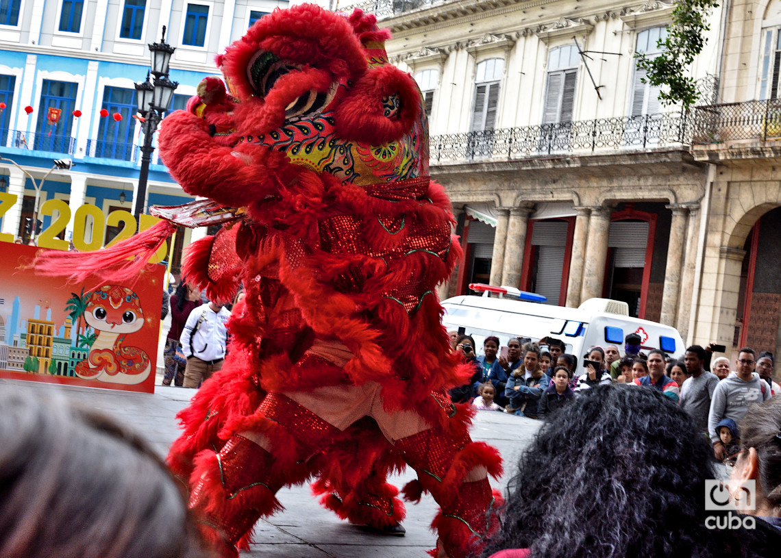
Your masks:
{"label": "green leafy branches hanging before the cream building's upper windows", "polygon": [[700,98],[697,83],[686,75],[686,70],[694,62],[694,57],[702,52],[707,41],[704,34],[710,30],[708,16],[718,6],[719,0],[679,0],[672,10],[672,24],[667,37],[658,42],[665,52],[650,59],[644,52],[635,53],[637,67],[647,72],[643,81],[668,87],[667,91],[662,90],[659,94],[662,105],[680,103],[686,109]]}

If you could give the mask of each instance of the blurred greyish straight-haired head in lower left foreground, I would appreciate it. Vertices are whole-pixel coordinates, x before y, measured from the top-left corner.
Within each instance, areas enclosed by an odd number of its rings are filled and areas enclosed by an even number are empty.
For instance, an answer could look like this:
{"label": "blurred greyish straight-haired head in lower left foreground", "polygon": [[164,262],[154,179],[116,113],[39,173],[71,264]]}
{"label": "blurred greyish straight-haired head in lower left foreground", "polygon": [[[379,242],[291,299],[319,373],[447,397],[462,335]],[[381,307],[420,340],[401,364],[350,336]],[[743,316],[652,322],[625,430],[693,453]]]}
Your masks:
{"label": "blurred greyish straight-haired head in lower left foreground", "polygon": [[136,435],[59,393],[5,387],[0,409],[0,557],[210,556]]}

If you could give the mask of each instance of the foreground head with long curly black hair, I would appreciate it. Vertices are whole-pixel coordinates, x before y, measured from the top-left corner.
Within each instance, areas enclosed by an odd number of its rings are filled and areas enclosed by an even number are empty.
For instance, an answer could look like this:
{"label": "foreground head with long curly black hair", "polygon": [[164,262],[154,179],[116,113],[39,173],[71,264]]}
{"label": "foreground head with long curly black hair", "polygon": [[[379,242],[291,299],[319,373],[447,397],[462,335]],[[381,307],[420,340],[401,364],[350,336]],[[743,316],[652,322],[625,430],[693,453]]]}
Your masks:
{"label": "foreground head with long curly black hair", "polygon": [[781,531],[764,521],[706,527],[719,514],[704,505],[712,464],[708,440],[669,397],[596,386],[544,423],[522,455],[483,556],[775,556]]}

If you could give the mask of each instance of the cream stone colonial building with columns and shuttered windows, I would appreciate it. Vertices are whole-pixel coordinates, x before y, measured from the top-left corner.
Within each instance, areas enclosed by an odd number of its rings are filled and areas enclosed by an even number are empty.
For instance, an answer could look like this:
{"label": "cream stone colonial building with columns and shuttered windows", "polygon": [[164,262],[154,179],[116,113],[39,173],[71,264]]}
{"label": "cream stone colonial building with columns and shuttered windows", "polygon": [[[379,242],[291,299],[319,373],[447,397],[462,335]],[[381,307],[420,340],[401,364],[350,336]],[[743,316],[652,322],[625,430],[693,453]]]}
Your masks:
{"label": "cream stone colonial building with columns and shuttered windows", "polygon": [[781,2],[723,4],[689,111],[663,106],[635,57],[661,52],[673,2],[359,5],[430,114],[465,248],[443,295],[609,297],[688,343],[781,346]]}

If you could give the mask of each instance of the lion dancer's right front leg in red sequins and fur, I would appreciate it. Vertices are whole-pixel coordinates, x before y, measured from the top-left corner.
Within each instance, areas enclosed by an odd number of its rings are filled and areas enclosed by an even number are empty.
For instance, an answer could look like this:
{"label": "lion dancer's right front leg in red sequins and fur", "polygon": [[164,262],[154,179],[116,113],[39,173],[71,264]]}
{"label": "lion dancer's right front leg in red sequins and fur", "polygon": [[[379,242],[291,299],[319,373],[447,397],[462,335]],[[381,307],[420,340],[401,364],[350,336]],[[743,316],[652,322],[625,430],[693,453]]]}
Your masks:
{"label": "lion dancer's right front leg in red sequins and fur", "polygon": [[405,487],[408,496],[412,492],[412,499],[419,498],[426,490],[440,505],[432,524],[439,533],[433,556],[478,556],[486,535],[498,527],[501,496],[491,491],[488,474],[501,474],[501,457],[469,438],[462,428],[465,420],[454,413],[444,426],[399,439],[394,446],[418,473],[418,483]]}

